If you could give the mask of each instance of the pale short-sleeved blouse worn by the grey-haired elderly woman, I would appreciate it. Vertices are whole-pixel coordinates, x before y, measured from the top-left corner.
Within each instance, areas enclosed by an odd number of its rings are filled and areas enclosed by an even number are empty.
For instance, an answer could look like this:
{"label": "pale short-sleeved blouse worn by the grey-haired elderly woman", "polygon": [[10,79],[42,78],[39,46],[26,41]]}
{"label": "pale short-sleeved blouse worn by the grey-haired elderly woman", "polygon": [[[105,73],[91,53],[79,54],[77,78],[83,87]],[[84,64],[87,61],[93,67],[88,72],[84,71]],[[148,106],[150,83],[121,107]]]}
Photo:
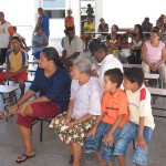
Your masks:
{"label": "pale short-sleeved blouse worn by the grey-haired elderly woman", "polygon": [[72,81],[71,100],[74,100],[73,116],[81,118],[85,114],[101,115],[102,89],[97,77],[91,76],[87,83],[80,85]]}

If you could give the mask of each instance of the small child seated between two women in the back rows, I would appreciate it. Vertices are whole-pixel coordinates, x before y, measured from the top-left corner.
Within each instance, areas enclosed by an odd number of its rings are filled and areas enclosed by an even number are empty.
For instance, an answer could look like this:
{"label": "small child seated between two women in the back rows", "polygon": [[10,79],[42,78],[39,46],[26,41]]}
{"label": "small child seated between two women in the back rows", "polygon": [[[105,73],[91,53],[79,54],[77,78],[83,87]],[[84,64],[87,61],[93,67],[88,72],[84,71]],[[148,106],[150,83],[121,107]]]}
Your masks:
{"label": "small child seated between two women in the back rows", "polygon": [[128,56],[131,56],[131,43],[128,43],[128,38],[126,35],[121,37],[118,60],[121,63],[128,63]]}

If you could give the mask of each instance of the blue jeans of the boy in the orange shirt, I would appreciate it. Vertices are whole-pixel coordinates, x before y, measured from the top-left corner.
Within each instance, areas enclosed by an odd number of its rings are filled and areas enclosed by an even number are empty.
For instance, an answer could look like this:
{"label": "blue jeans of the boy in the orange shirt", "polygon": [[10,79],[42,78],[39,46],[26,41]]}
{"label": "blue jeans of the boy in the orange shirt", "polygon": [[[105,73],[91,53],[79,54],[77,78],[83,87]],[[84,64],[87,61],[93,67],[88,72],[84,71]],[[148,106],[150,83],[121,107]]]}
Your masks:
{"label": "blue jeans of the boy in the orange shirt", "polygon": [[[85,141],[85,153],[92,153],[96,151],[102,152],[102,158],[106,162],[114,162],[115,157],[113,156],[114,145],[110,146],[104,144],[102,148],[102,139],[107,134],[107,132],[112,128],[113,125],[107,124],[105,122],[100,122],[97,125],[97,129],[95,132],[95,136],[87,137]],[[116,141],[122,128],[117,127],[113,134],[114,142]],[[102,149],[101,149],[102,148]]]}

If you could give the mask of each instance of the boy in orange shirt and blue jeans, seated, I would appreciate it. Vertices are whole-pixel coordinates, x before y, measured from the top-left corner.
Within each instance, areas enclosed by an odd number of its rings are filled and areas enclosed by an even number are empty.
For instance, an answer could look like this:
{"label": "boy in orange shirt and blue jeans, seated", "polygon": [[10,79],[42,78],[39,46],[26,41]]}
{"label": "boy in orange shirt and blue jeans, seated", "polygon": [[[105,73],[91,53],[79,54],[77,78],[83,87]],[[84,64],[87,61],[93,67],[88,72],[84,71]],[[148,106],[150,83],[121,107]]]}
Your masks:
{"label": "boy in orange shirt and blue jeans, seated", "polygon": [[[120,89],[122,81],[123,74],[120,69],[105,72],[102,114],[97,116],[93,128],[86,135],[85,153],[95,152],[100,166],[104,166],[105,162],[113,166],[114,143],[128,118],[127,97]],[[102,142],[104,146],[101,151]]]}

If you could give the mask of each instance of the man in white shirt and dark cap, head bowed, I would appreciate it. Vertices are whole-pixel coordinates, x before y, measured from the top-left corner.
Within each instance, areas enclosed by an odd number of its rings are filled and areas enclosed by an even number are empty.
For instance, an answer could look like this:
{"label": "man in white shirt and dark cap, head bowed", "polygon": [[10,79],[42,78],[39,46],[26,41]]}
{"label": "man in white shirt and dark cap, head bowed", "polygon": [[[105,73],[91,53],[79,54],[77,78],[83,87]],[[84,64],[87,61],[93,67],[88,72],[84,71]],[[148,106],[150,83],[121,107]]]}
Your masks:
{"label": "man in white shirt and dark cap, head bowed", "polygon": [[94,39],[90,43],[89,49],[91,53],[94,55],[95,60],[101,64],[98,79],[102,85],[104,73],[107,70],[118,68],[123,72],[122,63],[116,58],[114,58],[113,54],[107,53],[107,46],[103,42],[101,42],[97,39]]}

